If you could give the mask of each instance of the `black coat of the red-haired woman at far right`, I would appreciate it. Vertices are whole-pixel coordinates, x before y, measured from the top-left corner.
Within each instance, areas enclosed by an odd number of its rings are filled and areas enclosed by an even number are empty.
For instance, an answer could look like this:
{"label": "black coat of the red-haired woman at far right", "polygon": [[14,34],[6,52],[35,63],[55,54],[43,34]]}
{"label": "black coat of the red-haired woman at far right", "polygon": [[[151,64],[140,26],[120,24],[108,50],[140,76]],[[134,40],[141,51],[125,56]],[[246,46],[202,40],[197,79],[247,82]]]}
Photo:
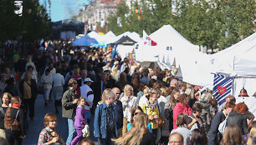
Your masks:
{"label": "black coat of the red-haired woman at far right", "polygon": [[228,115],[228,126],[230,125],[236,125],[241,129],[241,133],[247,134],[247,120],[246,117],[243,116],[243,114],[240,114],[236,111],[230,112]]}

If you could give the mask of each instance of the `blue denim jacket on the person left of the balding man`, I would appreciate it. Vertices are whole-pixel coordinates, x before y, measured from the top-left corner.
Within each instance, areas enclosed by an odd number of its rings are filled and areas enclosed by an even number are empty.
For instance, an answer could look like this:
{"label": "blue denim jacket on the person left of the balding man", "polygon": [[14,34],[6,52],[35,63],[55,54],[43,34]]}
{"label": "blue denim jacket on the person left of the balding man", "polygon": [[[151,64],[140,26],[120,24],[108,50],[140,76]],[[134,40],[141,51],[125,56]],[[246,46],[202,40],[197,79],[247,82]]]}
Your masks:
{"label": "blue denim jacket on the person left of the balding man", "polygon": [[[115,112],[114,112],[114,106],[110,106],[112,108],[112,116],[114,118],[115,123],[115,136],[117,138],[117,128],[116,128],[116,122],[115,122]],[[95,121],[94,121],[94,128],[95,128],[95,138],[107,138],[107,106],[105,102],[101,103],[98,107],[96,107],[95,110]]]}

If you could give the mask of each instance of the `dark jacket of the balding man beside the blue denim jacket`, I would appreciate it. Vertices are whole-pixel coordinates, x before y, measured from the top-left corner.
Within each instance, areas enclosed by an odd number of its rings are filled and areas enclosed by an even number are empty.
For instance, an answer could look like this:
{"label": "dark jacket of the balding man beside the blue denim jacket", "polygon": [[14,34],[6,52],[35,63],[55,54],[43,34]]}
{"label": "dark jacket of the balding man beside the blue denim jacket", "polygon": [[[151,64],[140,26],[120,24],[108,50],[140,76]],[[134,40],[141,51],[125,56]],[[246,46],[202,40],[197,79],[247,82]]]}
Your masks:
{"label": "dark jacket of the balding man beside the blue denim jacket", "polygon": [[123,106],[122,102],[120,100],[117,100],[115,107],[115,123],[117,129],[123,128],[123,118],[124,118],[124,112],[123,112]]}

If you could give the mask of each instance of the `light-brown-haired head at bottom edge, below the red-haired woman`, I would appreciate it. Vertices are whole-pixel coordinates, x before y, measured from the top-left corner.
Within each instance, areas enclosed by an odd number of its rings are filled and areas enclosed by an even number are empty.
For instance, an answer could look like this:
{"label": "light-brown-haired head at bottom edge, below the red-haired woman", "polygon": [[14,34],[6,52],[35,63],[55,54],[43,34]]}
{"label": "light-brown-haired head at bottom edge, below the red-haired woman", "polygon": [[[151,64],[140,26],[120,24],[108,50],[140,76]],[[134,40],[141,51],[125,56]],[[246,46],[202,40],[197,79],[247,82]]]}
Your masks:
{"label": "light-brown-haired head at bottom edge, below the red-haired woman", "polygon": [[230,125],[223,133],[221,145],[240,145],[243,144],[243,137],[240,128]]}

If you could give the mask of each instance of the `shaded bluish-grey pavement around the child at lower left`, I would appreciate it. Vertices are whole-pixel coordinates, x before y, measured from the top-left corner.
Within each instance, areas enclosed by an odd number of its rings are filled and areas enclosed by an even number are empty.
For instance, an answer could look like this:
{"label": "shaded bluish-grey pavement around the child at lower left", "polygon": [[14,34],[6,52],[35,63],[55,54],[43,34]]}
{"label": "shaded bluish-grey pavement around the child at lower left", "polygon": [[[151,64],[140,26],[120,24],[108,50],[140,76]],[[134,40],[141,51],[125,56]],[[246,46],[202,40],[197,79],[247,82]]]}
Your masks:
{"label": "shaded bluish-grey pavement around the child at lower left", "polygon": [[[44,129],[44,116],[46,113],[52,112],[55,114],[54,102],[49,101],[49,105],[47,107],[44,106],[44,96],[42,94],[38,94],[38,97],[35,102],[35,116],[33,120],[30,120],[28,117],[28,131],[26,138],[23,139],[23,145],[37,145],[39,133]],[[66,142],[68,137],[68,123],[67,118],[61,117],[61,107],[59,107],[59,114],[57,115],[57,130],[59,131],[61,138]],[[97,139],[93,137],[93,118],[90,122],[90,139],[97,144]],[[75,137],[75,136],[74,136]]]}

